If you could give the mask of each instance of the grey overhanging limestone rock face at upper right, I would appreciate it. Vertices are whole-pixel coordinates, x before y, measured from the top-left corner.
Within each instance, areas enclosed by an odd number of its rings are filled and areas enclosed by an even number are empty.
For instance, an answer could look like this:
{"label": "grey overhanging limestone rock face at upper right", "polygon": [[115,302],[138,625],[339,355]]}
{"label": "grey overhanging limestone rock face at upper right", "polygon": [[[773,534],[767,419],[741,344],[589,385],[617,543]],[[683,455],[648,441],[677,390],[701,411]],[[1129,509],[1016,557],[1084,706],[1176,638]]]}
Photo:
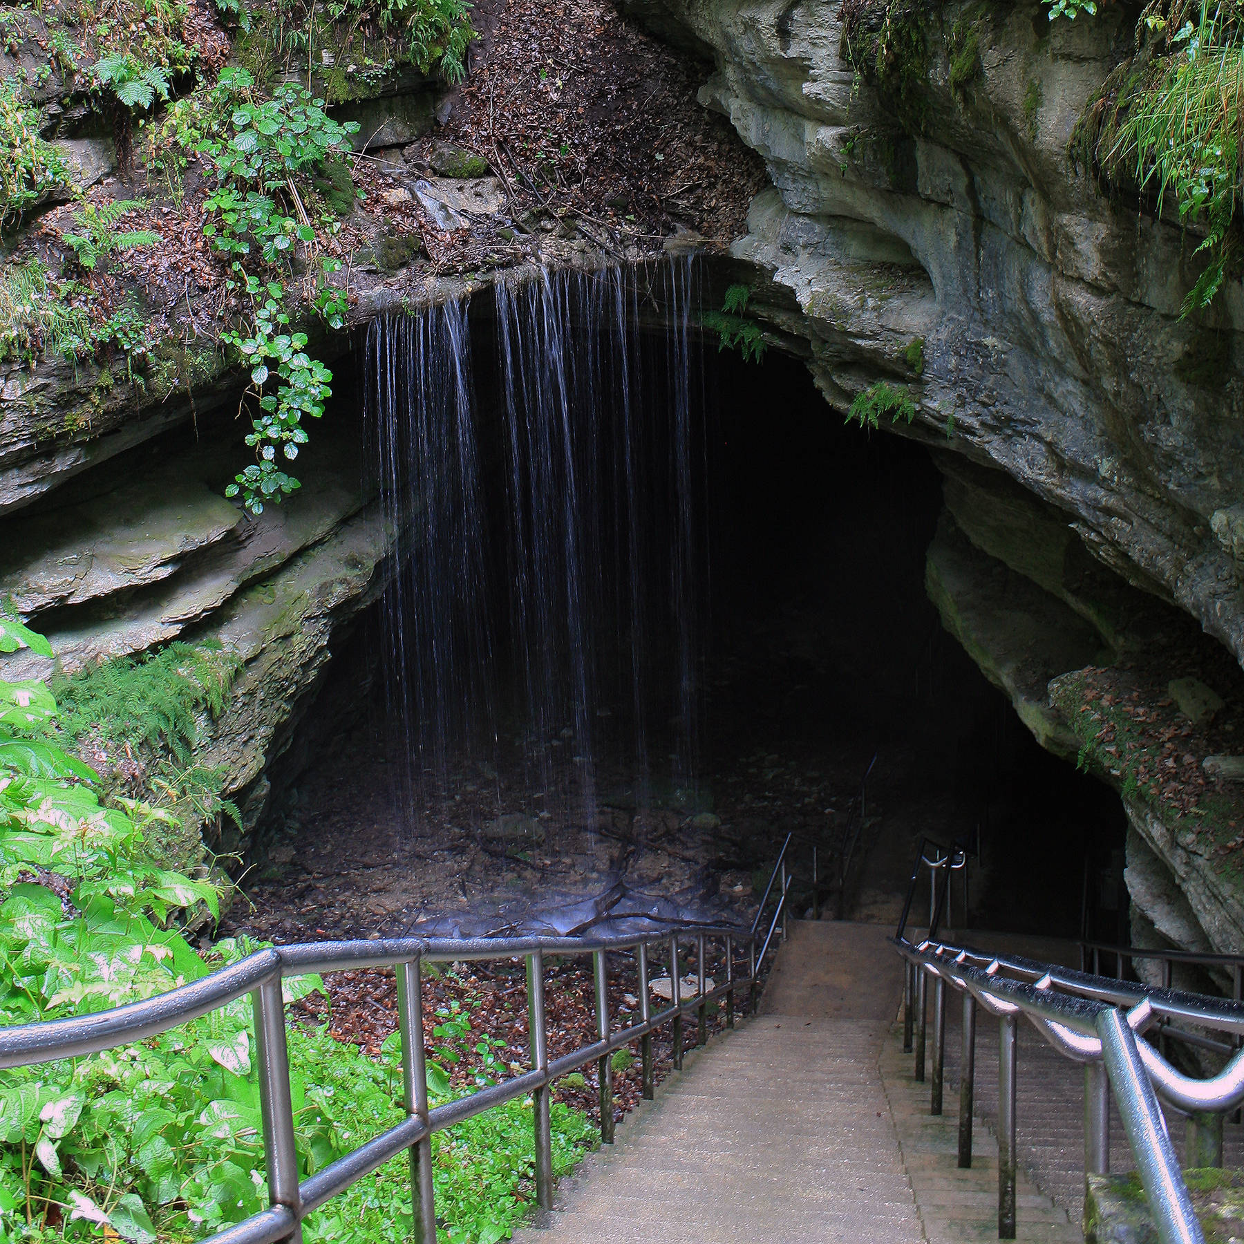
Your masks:
{"label": "grey overhanging limestone rock face at upper right", "polygon": [[[1193,248],[1112,208],[1067,154],[1128,50],[1118,10],[1076,22],[1050,22],[1037,4],[921,10],[922,112],[904,129],[843,60],[838,6],[627,7],[712,52],[702,100],[775,187],[734,246],[756,282],[749,311],[807,342],[829,401],[906,381],[911,434],[1052,503],[1102,562],[1244,658],[1240,285],[1213,330],[1179,320]],[[957,21],[979,65],[954,87]],[[918,376],[899,357],[914,338]],[[1193,366],[1210,345],[1217,366]]]}

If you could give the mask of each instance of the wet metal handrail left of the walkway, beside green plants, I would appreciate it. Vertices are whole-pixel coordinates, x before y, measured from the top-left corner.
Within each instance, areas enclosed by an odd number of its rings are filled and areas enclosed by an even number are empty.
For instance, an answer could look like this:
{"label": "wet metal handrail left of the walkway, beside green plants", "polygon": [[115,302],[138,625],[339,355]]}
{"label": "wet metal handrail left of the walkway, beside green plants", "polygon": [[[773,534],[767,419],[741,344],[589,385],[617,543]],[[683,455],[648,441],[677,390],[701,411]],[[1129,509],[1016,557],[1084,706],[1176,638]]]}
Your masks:
{"label": "wet metal handrail left of the walkway, beside green plants", "polygon": [[[653,1033],[666,1024],[672,1025],[675,1070],[680,1070],[683,1065],[683,1020],[688,1013],[698,1014],[697,1044],[703,1045],[708,1040],[705,944],[710,940],[724,942],[725,982],[720,988],[714,988],[714,994],[724,995],[726,1025],[734,1026],[735,995],[740,990],[743,990],[743,1014],[755,1010],[760,968],[779,922],[782,939],[786,937],[786,898],[791,881],[787,850],[792,842],[806,843],[812,848],[812,891],[814,896],[817,893],[817,843],[811,838],[787,833],[750,928],[682,922],[663,924],[648,933],[616,935],[588,933],[580,937],[393,938],[309,942],[274,947],[256,950],[200,980],[126,1006],[91,1015],[0,1028],[0,1070],[81,1057],[119,1045],[129,1045],[199,1019],[249,994],[255,1024],[255,1062],[259,1071],[270,1205],[244,1222],[209,1237],[204,1244],[275,1244],[277,1240],[301,1244],[301,1223],[309,1213],[345,1192],[403,1149],[411,1156],[415,1238],[419,1244],[435,1244],[430,1149],[434,1132],[460,1123],[503,1102],[530,1095],[534,1103],[536,1203],[541,1209],[550,1209],[552,1207],[550,1093],[555,1080],[596,1061],[601,1140],[605,1143],[612,1142],[613,1086],[610,1055],[634,1040],[641,1042],[642,1095],[651,1098],[656,1084]],[[781,884],[778,904],[758,954],[756,945],[761,942],[758,935],[760,919],[773,893],[775,878],[779,877]],[[668,944],[671,977],[671,1004],[657,1013],[652,1011],[648,977],[648,952],[654,943]],[[694,943],[698,950],[698,989],[693,998],[683,1000],[679,945],[685,943]],[[740,974],[736,967],[741,965],[735,960],[738,952],[744,948],[746,948],[746,970]],[[627,952],[634,954],[637,963],[639,1019],[638,1023],[615,1030],[608,1008],[607,957]],[[546,954],[591,954],[596,984],[597,1040],[552,1060],[549,1057],[544,991]],[[531,1070],[434,1110],[430,1108],[423,1040],[422,964],[515,958],[526,959]],[[397,970],[398,1031],[402,1044],[402,1081],[407,1117],[300,1182],[281,980],[285,977],[361,968]]]}

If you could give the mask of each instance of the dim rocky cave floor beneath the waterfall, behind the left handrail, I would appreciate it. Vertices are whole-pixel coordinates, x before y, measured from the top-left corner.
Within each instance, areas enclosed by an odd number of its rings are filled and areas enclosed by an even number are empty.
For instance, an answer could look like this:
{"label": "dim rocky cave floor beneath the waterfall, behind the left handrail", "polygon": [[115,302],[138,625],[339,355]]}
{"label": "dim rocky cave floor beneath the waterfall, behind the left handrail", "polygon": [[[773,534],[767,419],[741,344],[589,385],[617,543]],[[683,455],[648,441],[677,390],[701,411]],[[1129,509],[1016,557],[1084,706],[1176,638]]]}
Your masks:
{"label": "dim rocky cave floor beneath the waterfall, behind the left handrail", "polygon": [[[712,667],[695,797],[654,775],[637,806],[633,769],[606,746],[588,816],[536,790],[514,755],[452,764],[447,792],[409,826],[399,743],[360,720],[289,794],[224,931],[292,942],[570,933],[606,913],[749,921],[786,832],[815,837],[822,877],[833,871],[871,758],[867,729],[829,708],[829,664],[799,647],[756,629]],[[550,769],[571,789],[571,758]],[[870,825],[883,801],[870,791]]]}

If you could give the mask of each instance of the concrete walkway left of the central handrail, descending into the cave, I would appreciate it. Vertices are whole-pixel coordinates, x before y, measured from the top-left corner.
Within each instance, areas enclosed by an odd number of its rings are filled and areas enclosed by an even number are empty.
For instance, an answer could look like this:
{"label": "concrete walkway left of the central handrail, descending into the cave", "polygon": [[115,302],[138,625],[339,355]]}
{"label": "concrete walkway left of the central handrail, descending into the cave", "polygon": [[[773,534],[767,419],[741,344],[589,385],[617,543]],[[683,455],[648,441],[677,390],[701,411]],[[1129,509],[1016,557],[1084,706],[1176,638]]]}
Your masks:
{"label": "concrete walkway left of the central handrail, descending into the cave", "polygon": [[924,1230],[878,1059],[899,959],[881,926],[794,923],[761,1014],[688,1054],[521,1244],[907,1244]]}

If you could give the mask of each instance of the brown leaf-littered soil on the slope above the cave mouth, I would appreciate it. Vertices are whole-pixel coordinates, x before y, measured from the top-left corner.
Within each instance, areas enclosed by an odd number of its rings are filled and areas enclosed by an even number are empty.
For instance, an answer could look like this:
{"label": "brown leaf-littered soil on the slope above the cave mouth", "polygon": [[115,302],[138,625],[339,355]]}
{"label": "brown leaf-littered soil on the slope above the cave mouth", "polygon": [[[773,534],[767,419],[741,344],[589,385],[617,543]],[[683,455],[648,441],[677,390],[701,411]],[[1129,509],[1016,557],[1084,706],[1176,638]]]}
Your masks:
{"label": "brown leaf-littered soil on the slope above the cave mouth", "polygon": [[[662,46],[608,0],[481,5],[476,21],[484,34],[465,83],[452,92],[447,124],[404,149],[347,156],[363,197],[336,233],[321,229],[304,248],[297,266],[306,275],[286,284],[302,280],[310,294],[318,256],[336,258],[357,304],[379,286],[417,296],[429,277],[557,262],[571,241],[634,261],[659,254],[674,233],[725,244],[745,231],[748,204],[766,184],[764,165],[724,118],[697,102],[708,66]],[[190,6],[185,34],[199,49],[200,75],[213,81],[228,34],[203,0]],[[409,185],[428,172],[433,144],[444,142],[488,162],[505,190],[501,214],[437,228]],[[159,244],[77,270],[80,292],[71,297],[100,325],[137,296],[147,343],[215,348],[221,327],[249,307],[229,287],[228,260],[203,235],[210,165],[190,156],[188,168],[169,177],[154,159],[168,143],[158,127],[136,134],[131,167],[86,193],[97,205],[139,200],[118,228],[151,230]],[[77,228],[76,210],[51,208],[19,238],[11,259],[37,255],[53,271],[73,270],[62,235]],[[411,262],[396,275],[356,266],[378,239],[413,243]],[[148,350],[123,356],[111,348],[131,371],[148,366]]]}

